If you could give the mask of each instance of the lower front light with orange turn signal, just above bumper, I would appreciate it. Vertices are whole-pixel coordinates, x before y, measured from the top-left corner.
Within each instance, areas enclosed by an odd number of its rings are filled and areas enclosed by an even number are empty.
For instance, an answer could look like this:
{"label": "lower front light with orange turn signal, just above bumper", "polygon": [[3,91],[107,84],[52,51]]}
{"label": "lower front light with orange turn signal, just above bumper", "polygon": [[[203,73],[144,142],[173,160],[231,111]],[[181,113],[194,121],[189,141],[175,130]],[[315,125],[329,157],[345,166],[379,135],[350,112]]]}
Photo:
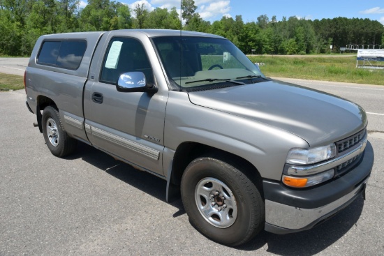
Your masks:
{"label": "lower front light with orange turn signal, just above bumper", "polygon": [[293,188],[307,188],[315,186],[319,183],[332,179],[334,176],[334,170],[327,170],[320,174],[307,177],[287,176],[283,175],[283,183]]}

